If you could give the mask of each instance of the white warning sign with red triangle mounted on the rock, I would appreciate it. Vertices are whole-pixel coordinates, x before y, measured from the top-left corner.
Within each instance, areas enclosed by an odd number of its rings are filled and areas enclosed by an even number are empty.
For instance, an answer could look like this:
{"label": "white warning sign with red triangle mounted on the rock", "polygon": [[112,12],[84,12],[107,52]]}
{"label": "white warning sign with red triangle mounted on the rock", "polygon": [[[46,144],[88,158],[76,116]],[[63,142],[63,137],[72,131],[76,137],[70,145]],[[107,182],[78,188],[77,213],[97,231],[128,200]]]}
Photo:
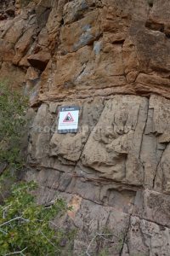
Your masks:
{"label": "white warning sign with red triangle mounted on the rock", "polygon": [[60,107],[59,109],[59,133],[77,132],[78,129],[78,107]]}

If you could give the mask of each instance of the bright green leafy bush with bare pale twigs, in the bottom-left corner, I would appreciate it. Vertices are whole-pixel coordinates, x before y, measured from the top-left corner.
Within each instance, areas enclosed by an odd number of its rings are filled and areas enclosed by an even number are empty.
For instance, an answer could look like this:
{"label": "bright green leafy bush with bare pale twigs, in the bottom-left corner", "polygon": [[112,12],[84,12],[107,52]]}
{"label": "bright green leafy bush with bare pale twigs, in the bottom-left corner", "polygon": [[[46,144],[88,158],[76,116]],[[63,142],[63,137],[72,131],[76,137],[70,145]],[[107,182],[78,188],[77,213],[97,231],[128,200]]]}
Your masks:
{"label": "bright green leafy bush with bare pale twigs, in the bottom-left corner", "polygon": [[37,205],[31,190],[35,183],[15,183],[11,195],[0,206],[0,255],[61,255],[60,244],[72,239],[72,232],[50,228],[51,219],[67,209],[57,200],[50,207]]}

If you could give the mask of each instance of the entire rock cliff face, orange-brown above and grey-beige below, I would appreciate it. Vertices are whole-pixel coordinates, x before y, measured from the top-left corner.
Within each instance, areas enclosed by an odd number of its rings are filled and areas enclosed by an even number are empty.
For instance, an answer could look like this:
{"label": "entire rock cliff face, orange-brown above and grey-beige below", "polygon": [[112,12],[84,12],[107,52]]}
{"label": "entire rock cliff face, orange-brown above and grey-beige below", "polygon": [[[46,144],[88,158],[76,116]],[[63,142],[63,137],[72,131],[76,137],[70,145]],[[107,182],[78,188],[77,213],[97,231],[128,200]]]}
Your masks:
{"label": "entire rock cliff face, orange-brown above and grey-beige below", "polygon": [[[30,96],[38,201],[73,207],[73,255],[169,256],[170,2],[23,4],[0,21],[0,76]],[[58,134],[68,105],[78,132]]]}

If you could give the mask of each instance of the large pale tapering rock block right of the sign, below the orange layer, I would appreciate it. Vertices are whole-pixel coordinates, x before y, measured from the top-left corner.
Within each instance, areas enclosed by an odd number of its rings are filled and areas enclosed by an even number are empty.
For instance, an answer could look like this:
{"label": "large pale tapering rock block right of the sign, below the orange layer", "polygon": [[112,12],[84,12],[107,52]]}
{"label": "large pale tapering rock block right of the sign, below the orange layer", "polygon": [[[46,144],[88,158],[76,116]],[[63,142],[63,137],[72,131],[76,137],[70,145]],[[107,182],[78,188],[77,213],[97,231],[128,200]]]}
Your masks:
{"label": "large pale tapering rock block right of the sign, below the orange layer", "polygon": [[95,132],[88,139],[82,164],[101,172],[99,177],[144,183],[139,154],[146,117],[147,101],[135,96],[115,96],[106,103]]}

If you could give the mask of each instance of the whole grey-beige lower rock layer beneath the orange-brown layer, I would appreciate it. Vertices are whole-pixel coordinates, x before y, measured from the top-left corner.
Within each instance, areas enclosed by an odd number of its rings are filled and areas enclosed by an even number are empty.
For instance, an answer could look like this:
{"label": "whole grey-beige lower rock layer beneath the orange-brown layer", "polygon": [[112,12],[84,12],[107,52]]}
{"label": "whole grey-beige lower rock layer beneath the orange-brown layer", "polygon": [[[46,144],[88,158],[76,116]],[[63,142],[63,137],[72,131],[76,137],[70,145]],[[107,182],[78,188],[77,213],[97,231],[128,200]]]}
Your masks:
{"label": "whole grey-beige lower rock layer beneath the orange-brown layer", "polygon": [[48,204],[58,191],[73,206],[62,224],[79,230],[74,255],[102,247],[109,255],[168,255],[170,101],[77,101],[79,131],[58,134],[59,107],[72,104],[43,103],[33,121],[26,178],[40,183],[38,201]]}

